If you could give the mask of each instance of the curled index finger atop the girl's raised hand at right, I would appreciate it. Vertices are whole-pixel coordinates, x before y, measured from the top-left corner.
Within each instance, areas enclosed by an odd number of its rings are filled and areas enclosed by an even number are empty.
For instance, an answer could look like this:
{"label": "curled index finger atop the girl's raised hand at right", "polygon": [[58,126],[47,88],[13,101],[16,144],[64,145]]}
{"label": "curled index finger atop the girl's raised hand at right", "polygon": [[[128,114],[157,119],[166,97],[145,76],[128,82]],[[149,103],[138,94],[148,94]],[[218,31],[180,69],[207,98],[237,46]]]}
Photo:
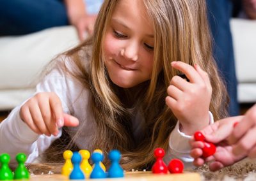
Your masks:
{"label": "curled index finger atop the girl's raised hand at right", "polygon": [[198,72],[196,71],[195,68],[193,68],[193,66],[186,64],[184,62],[172,62],[172,67],[175,69],[178,69],[179,71],[181,71],[182,73],[184,73],[189,81],[191,83],[196,83],[196,82],[201,82],[202,81],[202,77],[198,74]]}

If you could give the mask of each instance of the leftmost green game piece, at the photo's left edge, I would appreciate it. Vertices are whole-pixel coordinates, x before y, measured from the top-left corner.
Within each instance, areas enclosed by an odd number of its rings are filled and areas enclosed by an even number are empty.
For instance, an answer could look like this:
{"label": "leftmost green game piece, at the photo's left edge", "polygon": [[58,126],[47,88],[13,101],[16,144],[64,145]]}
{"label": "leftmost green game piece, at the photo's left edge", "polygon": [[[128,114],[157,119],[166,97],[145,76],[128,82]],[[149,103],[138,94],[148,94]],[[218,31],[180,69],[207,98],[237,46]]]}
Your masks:
{"label": "leftmost green game piece, at the photo's left edge", "polygon": [[8,154],[1,154],[0,163],[2,164],[0,170],[0,180],[13,180],[13,173],[10,170],[8,163],[10,162],[11,157]]}

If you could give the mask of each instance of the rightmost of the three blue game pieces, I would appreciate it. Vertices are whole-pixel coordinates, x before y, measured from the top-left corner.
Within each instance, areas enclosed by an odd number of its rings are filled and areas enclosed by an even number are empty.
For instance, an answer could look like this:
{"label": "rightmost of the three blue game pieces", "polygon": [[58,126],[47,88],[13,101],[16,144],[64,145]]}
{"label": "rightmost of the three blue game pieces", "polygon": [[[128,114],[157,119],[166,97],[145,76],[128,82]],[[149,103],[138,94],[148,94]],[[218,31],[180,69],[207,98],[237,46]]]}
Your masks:
{"label": "rightmost of the three blue game pieces", "polygon": [[120,166],[119,161],[121,159],[121,154],[118,150],[112,150],[109,152],[108,158],[111,161],[111,165],[108,170],[108,177],[118,178],[124,177],[124,170]]}

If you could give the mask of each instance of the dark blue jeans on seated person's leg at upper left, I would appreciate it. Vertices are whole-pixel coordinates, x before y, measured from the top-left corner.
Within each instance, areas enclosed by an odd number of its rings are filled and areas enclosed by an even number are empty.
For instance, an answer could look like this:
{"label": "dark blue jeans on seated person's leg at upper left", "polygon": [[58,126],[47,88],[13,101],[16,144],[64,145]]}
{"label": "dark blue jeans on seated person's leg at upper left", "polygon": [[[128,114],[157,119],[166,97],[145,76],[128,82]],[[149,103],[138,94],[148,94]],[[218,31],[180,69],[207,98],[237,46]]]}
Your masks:
{"label": "dark blue jeans on seated person's leg at upper left", "polygon": [[22,35],[68,24],[59,0],[0,0],[0,36]]}

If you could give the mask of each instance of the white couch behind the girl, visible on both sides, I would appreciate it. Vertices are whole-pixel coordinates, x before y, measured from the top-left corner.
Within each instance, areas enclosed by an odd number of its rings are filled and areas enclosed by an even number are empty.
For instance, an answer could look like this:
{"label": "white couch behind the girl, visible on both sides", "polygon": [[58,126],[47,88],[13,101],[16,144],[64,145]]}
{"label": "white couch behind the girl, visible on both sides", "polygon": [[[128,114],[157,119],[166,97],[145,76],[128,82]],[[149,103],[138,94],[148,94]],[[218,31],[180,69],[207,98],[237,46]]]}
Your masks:
{"label": "white couch behind the girl, visible on both sides", "polygon": [[[256,21],[232,19],[239,103],[256,102]],[[72,26],[25,36],[0,38],[0,111],[11,110],[33,94],[44,66],[79,43]]]}

